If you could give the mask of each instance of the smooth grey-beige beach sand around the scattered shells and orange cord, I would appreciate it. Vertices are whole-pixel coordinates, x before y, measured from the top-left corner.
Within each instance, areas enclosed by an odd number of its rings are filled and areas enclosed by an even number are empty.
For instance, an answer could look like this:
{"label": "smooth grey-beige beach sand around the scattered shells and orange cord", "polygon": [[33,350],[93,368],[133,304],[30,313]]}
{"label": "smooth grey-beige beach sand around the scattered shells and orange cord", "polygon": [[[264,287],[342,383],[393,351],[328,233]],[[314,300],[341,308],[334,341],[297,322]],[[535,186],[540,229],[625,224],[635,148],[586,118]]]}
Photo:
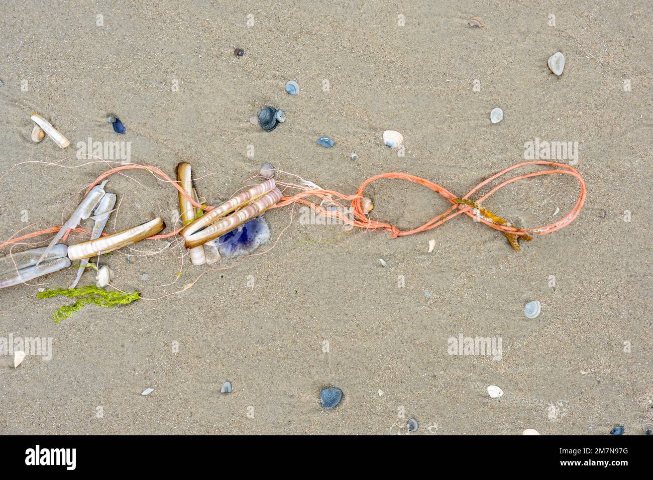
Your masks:
{"label": "smooth grey-beige beach sand around the scattered shells and orange cord", "polygon": [[[0,6],[0,242],[61,225],[86,187],[125,160],[80,158],[89,139],[128,142],[131,163],[172,177],[191,163],[210,203],[266,162],[278,179],[295,182],[289,172],[347,195],[385,172],[464,195],[525,161],[528,142],[571,142],[575,158],[553,161],[582,175],[584,208],[515,251],[462,215],[390,238],[305,225],[287,206],[265,214],[271,240],[258,251],[274,248],[242,261],[182,265],[164,240],[103,257],[116,287],[140,291],[128,306],[87,306],[55,323],[71,299],[37,293],[68,288],[76,268],[2,289],[0,338],[51,338],[52,358],[27,355],[14,369],[13,355],[0,355],[0,433],[406,434],[414,418],[426,435],[607,435],[618,425],[643,434],[653,419],[648,2],[164,5]],[[468,25],[471,16],[485,26]],[[547,67],[556,52],[560,76]],[[286,93],[288,80],[298,95]],[[249,123],[266,105],[287,114],[271,132]],[[504,118],[493,125],[496,107]],[[31,112],[71,145],[32,142]],[[383,145],[385,130],[404,135],[403,155]],[[106,231],[151,213],[170,231],[174,187],[124,173],[106,184],[120,202]],[[404,230],[451,205],[400,180],[366,193],[375,215]],[[575,178],[549,175],[483,205],[535,227],[578,197]],[[89,271],[80,285],[93,283]],[[532,300],[541,314],[528,319]],[[451,355],[460,336],[500,339],[500,359]],[[490,398],[489,385],[503,396]],[[343,400],[327,411],[319,395],[329,386]]]}

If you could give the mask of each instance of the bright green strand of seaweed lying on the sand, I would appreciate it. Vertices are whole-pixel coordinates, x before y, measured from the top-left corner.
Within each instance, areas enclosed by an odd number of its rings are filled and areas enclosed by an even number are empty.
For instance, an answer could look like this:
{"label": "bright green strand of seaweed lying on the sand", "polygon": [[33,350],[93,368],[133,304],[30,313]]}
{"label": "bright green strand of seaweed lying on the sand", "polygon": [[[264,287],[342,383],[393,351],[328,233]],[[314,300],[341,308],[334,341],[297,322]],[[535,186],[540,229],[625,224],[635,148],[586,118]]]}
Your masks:
{"label": "bright green strand of seaweed lying on the sand", "polygon": [[82,310],[85,305],[97,305],[104,308],[114,308],[118,305],[128,305],[140,298],[138,291],[128,293],[122,291],[108,292],[105,289],[95,285],[86,285],[86,287],[77,287],[74,289],[48,289],[37,293],[37,298],[54,298],[55,296],[67,296],[68,298],[77,298],[72,305],[65,305],[57,308],[52,315],[55,323],[65,320],[72,313]]}

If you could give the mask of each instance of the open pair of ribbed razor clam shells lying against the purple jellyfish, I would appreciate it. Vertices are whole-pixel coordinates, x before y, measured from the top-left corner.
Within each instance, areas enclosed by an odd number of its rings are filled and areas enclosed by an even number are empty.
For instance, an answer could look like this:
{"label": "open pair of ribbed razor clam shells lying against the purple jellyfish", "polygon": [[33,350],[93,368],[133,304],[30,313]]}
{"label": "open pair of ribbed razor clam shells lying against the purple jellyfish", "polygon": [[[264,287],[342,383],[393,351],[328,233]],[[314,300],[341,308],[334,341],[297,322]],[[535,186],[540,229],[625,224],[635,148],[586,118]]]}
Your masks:
{"label": "open pair of ribbed razor clam shells lying against the purple jellyfish", "polygon": [[[263,214],[281,200],[281,196],[274,180],[266,180],[262,184],[250,187],[183,227],[180,234],[185,240],[186,248],[205,244],[240,227],[243,223]],[[240,210],[224,217],[236,208]]]}

